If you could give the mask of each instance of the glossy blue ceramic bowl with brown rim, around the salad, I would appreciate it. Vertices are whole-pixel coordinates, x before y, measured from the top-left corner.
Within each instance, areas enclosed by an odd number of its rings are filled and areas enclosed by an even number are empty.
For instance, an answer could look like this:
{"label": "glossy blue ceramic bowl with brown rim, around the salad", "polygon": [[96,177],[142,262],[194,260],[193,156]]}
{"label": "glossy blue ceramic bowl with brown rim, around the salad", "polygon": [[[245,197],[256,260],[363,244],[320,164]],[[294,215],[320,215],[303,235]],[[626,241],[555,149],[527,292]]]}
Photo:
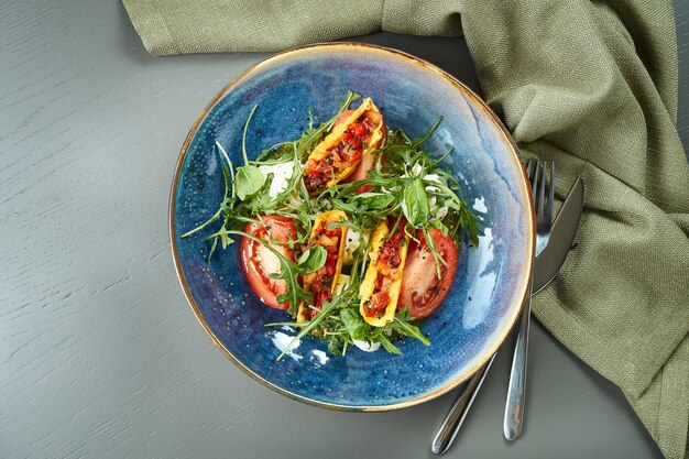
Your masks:
{"label": "glossy blue ceramic bowl with brown rim, around the salad", "polygon": [[[302,339],[276,360],[295,335],[264,324],[287,319],[264,306],[243,276],[238,250],[206,262],[208,232],[181,239],[216,212],[222,198],[219,141],[241,163],[244,121],[250,157],[297,138],[309,107],[316,121],[332,116],[348,89],[371,97],[390,127],[420,136],[445,117],[427,145],[463,182],[482,217],[478,249],[460,251],[457,277],[444,305],[420,328],[431,345],[401,345],[403,356],[350,348],[330,357],[315,338]],[[497,350],[515,321],[533,264],[529,188],[514,144],[481,99],[437,67],[394,50],[352,43],[287,51],[251,67],[225,87],[192,128],[175,172],[171,238],[182,288],[212,341],[240,369],[267,386],[318,406],[382,411],[436,397],[469,378]],[[219,222],[218,222],[219,225]],[[216,227],[212,227],[215,229]],[[236,244],[238,245],[238,244]]]}

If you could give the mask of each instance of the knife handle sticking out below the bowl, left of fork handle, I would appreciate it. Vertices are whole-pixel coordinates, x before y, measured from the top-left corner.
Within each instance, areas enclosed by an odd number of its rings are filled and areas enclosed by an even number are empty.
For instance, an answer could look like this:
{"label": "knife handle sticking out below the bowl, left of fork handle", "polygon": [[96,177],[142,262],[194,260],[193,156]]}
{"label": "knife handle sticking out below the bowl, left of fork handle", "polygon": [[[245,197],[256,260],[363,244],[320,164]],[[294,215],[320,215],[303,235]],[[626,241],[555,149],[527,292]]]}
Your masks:
{"label": "knife handle sticking out below the bowl, left of fork handle", "polygon": [[430,446],[430,450],[434,455],[439,456],[447,451],[447,449],[455,441],[455,437],[457,437],[457,433],[464,422],[464,417],[467,417],[467,413],[469,413],[469,408],[473,403],[479,390],[481,389],[481,384],[488,374],[488,370],[490,370],[493,360],[495,359],[495,354],[491,357],[491,360],[488,361],[486,364],[481,367],[481,369],[471,376],[461,394],[455,401],[455,404],[450,408],[449,413],[445,417],[445,420],[440,425],[438,433],[433,439],[433,444]]}

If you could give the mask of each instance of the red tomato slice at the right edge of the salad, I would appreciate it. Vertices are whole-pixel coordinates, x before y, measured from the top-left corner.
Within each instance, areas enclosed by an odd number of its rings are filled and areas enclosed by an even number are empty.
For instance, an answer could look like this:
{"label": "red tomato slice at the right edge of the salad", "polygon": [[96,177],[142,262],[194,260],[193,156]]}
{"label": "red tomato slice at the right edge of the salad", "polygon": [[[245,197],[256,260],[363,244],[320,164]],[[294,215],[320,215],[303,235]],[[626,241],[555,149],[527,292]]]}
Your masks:
{"label": "red tomato slice at the right edge of the salad", "polygon": [[447,265],[440,266],[440,278],[437,275],[433,252],[420,230],[416,234],[419,242],[412,241],[409,244],[409,252],[402,275],[397,309],[408,307],[412,316],[417,319],[428,317],[440,306],[452,287],[457,272],[459,252],[452,238],[444,236],[437,229],[430,231],[430,237],[438,253],[447,262]]}

